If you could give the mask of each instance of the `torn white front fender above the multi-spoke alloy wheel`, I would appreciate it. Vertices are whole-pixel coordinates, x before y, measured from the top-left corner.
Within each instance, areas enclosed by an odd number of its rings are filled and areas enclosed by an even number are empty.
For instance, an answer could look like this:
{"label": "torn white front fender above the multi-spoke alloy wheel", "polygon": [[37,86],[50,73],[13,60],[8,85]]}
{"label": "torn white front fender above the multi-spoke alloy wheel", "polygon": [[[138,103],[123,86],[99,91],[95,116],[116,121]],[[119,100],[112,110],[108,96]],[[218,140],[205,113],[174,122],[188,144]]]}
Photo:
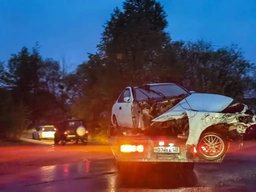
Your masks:
{"label": "torn white front fender above the multi-spoke alloy wheel", "polygon": [[[190,115],[191,111],[186,111]],[[197,145],[201,133],[211,125],[221,123],[232,124],[231,129],[236,129],[238,133],[245,133],[247,127],[256,124],[238,122],[239,116],[247,116],[244,113],[230,114],[230,113],[209,113],[198,111],[194,116],[188,118],[189,121],[189,135],[186,145]],[[230,130],[229,128],[229,130]],[[230,130],[231,131],[231,130]]]}

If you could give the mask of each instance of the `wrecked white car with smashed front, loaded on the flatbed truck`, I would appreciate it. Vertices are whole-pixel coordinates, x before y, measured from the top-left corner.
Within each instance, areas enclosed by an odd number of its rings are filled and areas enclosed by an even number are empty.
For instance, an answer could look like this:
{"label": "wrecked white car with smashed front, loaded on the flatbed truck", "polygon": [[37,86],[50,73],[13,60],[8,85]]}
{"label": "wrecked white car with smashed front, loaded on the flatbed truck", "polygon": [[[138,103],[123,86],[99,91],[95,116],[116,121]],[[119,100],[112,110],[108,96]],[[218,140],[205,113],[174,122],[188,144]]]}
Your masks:
{"label": "wrecked white car with smashed front, loaded on the flatbed truck", "polygon": [[153,83],[126,87],[112,107],[111,120],[118,134],[176,136],[204,159],[216,160],[226,154],[228,141],[256,124],[256,115],[230,97]]}

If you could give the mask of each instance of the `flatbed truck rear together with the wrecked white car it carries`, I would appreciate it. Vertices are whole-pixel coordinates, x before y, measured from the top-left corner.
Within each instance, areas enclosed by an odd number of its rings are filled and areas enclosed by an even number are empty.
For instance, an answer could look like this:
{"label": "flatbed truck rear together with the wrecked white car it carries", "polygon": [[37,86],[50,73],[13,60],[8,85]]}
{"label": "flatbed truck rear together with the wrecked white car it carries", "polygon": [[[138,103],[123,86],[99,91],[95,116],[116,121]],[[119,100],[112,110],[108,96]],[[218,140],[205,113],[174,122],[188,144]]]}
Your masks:
{"label": "flatbed truck rear together with the wrecked white car it carries", "polygon": [[256,124],[249,106],[223,95],[189,92],[174,83],[125,88],[111,119],[109,138],[123,140],[110,142],[118,149],[127,145],[128,152],[140,145],[142,151],[125,159],[116,153],[119,161],[222,162],[229,141]]}

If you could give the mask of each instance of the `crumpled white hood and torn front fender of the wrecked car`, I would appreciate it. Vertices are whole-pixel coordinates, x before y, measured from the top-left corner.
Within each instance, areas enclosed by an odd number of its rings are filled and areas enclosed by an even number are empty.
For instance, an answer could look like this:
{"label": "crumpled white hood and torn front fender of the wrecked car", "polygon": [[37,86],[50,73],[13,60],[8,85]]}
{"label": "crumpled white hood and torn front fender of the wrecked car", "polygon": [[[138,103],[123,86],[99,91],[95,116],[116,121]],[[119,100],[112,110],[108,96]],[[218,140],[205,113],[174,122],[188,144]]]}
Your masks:
{"label": "crumpled white hood and torn front fender of the wrecked car", "polygon": [[197,145],[201,133],[211,125],[227,123],[230,124],[229,131],[236,129],[238,133],[245,133],[249,126],[256,124],[256,116],[253,116],[251,122],[239,121],[239,117],[248,116],[244,113],[248,109],[247,105],[244,105],[241,112],[221,113],[232,101],[232,98],[223,95],[193,93],[152,121],[177,120],[187,115],[189,135],[186,145]]}

